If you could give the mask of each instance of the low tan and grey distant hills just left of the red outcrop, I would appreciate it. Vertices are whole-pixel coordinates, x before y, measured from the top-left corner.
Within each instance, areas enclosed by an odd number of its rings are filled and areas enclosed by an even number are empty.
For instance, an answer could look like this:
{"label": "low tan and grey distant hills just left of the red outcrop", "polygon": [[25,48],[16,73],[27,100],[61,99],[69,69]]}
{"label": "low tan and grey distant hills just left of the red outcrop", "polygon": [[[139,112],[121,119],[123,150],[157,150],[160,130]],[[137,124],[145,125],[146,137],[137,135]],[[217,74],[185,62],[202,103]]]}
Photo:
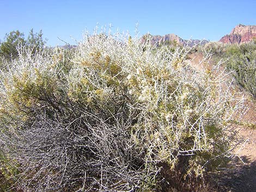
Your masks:
{"label": "low tan and grey distant hills just left of the red outcrop", "polygon": [[182,45],[182,46],[194,46],[194,45],[205,45],[209,41],[207,40],[184,40],[181,39],[178,35],[175,34],[167,34],[167,35],[151,35],[147,34],[142,37],[142,41],[145,41],[146,37],[150,36],[151,38],[151,44],[156,45],[156,46],[161,46],[161,45]]}

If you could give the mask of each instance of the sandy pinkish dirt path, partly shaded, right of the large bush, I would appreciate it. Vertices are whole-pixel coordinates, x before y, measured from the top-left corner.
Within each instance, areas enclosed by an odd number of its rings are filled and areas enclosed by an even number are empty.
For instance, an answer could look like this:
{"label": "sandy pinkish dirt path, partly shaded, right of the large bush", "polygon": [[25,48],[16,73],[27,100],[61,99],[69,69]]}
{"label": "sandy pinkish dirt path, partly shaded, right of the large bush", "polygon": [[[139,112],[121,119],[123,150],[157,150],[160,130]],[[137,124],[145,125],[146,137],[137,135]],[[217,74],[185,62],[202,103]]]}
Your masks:
{"label": "sandy pinkish dirt path, partly shaded, right of the large bush", "polygon": [[[256,104],[249,102],[248,112],[243,121],[256,123]],[[223,191],[255,192],[256,191],[256,129],[243,126],[239,128],[243,143],[234,151],[234,159],[230,169],[225,170],[221,181]]]}

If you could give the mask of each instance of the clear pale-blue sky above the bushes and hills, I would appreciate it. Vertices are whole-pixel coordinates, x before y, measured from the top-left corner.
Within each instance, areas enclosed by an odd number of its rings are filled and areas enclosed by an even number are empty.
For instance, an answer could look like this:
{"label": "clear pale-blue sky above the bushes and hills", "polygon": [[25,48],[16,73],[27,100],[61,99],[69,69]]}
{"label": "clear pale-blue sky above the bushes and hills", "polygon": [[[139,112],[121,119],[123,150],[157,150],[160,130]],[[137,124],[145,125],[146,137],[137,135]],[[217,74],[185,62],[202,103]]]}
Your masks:
{"label": "clear pale-blue sky above the bushes and hills", "polygon": [[174,33],[183,39],[219,40],[237,24],[256,24],[256,0],[244,1],[82,1],[82,0],[0,0],[0,39],[11,30],[28,35],[42,29],[50,46],[82,39],[96,23],[134,34]]}

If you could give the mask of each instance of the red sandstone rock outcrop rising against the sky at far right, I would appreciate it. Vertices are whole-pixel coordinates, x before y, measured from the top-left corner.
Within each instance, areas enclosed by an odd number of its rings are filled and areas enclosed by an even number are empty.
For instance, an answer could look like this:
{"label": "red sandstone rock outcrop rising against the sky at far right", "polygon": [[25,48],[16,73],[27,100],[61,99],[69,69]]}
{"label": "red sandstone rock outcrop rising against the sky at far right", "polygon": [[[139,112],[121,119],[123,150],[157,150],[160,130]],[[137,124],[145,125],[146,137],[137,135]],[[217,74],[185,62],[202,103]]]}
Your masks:
{"label": "red sandstone rock outcrop rising against the sky at far right", "polygon": [[241,44],[242,42],[251,41],[253,38],[256,38],[256,26],[239,24],[229,35],[223,36],[220,42],[225,44]]}

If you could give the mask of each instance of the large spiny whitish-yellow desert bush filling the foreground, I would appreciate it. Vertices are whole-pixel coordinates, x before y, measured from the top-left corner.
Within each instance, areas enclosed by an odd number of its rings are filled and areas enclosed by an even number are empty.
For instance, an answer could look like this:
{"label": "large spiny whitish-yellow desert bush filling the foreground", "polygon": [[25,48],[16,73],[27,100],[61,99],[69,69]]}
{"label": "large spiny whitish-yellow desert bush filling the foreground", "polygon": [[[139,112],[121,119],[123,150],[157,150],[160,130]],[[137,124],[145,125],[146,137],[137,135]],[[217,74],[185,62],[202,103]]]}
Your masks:
{"label": "large spiny whitish-yellow desert bush filling the foreground", "polygon": [[95,33],[72,52],[20,51],[0,75],[13,189],[182,191],[224,165],[240,101],[223,71],[186,64],[185,48]]}

